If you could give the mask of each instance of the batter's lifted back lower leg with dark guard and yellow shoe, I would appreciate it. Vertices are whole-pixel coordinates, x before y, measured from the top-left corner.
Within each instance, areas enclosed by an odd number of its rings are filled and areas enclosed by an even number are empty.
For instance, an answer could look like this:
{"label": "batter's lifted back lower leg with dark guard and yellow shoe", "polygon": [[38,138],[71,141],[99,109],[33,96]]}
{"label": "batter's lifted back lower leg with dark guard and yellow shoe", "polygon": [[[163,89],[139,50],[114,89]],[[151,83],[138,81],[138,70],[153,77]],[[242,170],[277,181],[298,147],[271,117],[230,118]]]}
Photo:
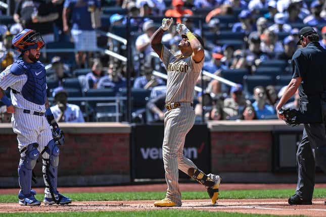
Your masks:
{"label": "batter's lifted back lower leg with dark guard and yellow shoe", "polygon": [[198,168],[190,168],[188,170],[188,176],[194,178],[197,182],[204,185],[207,189],[207,193],[211,198],[212,204],[215,204],[218,200],[218,188],[221,182],[221,178],[218,175],[208,174]]}

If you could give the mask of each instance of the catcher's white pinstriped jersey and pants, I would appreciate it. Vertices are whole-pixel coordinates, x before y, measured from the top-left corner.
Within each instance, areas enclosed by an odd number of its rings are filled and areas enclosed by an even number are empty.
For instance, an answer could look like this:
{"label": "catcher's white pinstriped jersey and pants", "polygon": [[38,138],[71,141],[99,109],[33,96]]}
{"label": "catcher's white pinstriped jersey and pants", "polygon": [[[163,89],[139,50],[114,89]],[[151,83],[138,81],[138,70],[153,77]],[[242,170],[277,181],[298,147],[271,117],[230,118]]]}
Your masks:
{"label": "catcher's white pinstriped jersey and pants", "polygon": [[[21,92],[24,84],[27,81],[27,76],[14,75],[10,72],[8,66],[2,73],[0,73],[0,88],[6,90],[8,87]],[[20,93],[14,94],[10,92],[12,104],[15,106],[15,113],[12,116],[11,122],[13,131],[17,134],[18,148],[22,149],[24,146],[31,143],[38,143],[38,150],[42,151],[48,145],[49,141],[53,139],[50,125],[45,116],[36,116],[33,114],[25,114],[24,110],[30,110],[31,113],[45,112],[45,105],[35,104],[26,100]],[[24,153],[22,153],[22,156]],[[45,156],[46,155],[46,156]],[[49,158],[45,152],[44,158]]]}

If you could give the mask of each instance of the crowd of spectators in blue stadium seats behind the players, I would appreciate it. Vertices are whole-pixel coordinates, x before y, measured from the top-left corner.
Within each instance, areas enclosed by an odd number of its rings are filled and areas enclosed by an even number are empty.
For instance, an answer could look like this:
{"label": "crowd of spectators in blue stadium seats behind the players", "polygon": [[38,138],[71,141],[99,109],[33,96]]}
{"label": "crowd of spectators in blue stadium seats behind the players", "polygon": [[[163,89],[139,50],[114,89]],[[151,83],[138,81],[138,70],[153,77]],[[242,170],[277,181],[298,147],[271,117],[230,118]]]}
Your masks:
{"label": "crowd of spectators in blue stadium seats behind the players", "polygon": [[[153,72],[166,71],[150,46],[150,38],[164,17],[175,19],[162,43],[174,49],[181,40],[175,32],[176,22],[187,25],[204,38],[203,71],[221,77],[225,71],[236,70],[245,70],[248,76],[272,74],[273,79],[277,75],[290,76],[298,29],[305,25],[315,28],[321,36],[320,44],[326,47],[324,0],[18,0],[11,16],[13,22],[0,24],[1,70],[18,57],[11,46],[12,38],[23,28],[35,29],[41,33],[46,49],[71,48],[67,44],[75,49],[72,58],[67,53],[43,53],[48,83],[52,84],[48,84],[49,96],[57,87],[64,87],[68,96],[75,88],[65,85],[69,79],[78,81],[80,96],[90,89],[111,89],[112,95],[121,95],[128,86],[126,77],[130,72],[131,87],[146,90],[143,107],[137,107],[144,109],[133,110],[145,122],[163,121],[165,80]],[[131,33],[126,32],[128,21]],[[131,55],[125,44],[101,31],[127,38]],[[106,55],[104,49],[129,55],[131,60],[127,65]],[[274,60],[281,61],[277,63],[282,66],[266,64]],[[280,70],[268,72],[266,66]],[[262,82],[249,87],[242,79],[233,82],[238,84],[228,86],[200,76],[197,86],[204,91],[195,94],[198,120],[202,116],[206,120],[276,118],[274,106],[286,84]],[[294,97],[287,106],[297,108],[296,100]]]}

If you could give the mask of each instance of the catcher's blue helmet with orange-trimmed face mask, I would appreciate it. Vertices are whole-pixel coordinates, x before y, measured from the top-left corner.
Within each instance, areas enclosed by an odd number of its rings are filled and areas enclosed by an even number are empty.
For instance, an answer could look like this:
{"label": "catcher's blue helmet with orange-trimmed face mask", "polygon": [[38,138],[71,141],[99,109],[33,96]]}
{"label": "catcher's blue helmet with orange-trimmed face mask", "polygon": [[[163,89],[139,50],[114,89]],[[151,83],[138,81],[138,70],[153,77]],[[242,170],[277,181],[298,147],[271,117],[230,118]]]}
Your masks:
{"label": "catcher's blue helmet with orange-trimmed face mask", "polygon": [[24,29],[13,38],[12,44],[16,49],[24,52],[29,49],[42,48],[44,41],[42,36],[35,30]]}

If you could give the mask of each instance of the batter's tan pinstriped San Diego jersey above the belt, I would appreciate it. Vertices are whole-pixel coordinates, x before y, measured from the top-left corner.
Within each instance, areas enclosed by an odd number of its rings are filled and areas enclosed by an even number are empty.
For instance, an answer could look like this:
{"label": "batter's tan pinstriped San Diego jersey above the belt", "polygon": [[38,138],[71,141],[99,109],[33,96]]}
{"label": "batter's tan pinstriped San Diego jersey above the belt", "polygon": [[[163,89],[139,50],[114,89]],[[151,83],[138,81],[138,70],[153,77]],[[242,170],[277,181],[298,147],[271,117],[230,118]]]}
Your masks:
{"label": "batter's tan pinstriped San Diego jersey above the belt", "polygon": [[205,59],[196,63],[192,57],[181,57],[165,46],[161,59],[167,71],[166,103],[192,102],[195,84]]}

